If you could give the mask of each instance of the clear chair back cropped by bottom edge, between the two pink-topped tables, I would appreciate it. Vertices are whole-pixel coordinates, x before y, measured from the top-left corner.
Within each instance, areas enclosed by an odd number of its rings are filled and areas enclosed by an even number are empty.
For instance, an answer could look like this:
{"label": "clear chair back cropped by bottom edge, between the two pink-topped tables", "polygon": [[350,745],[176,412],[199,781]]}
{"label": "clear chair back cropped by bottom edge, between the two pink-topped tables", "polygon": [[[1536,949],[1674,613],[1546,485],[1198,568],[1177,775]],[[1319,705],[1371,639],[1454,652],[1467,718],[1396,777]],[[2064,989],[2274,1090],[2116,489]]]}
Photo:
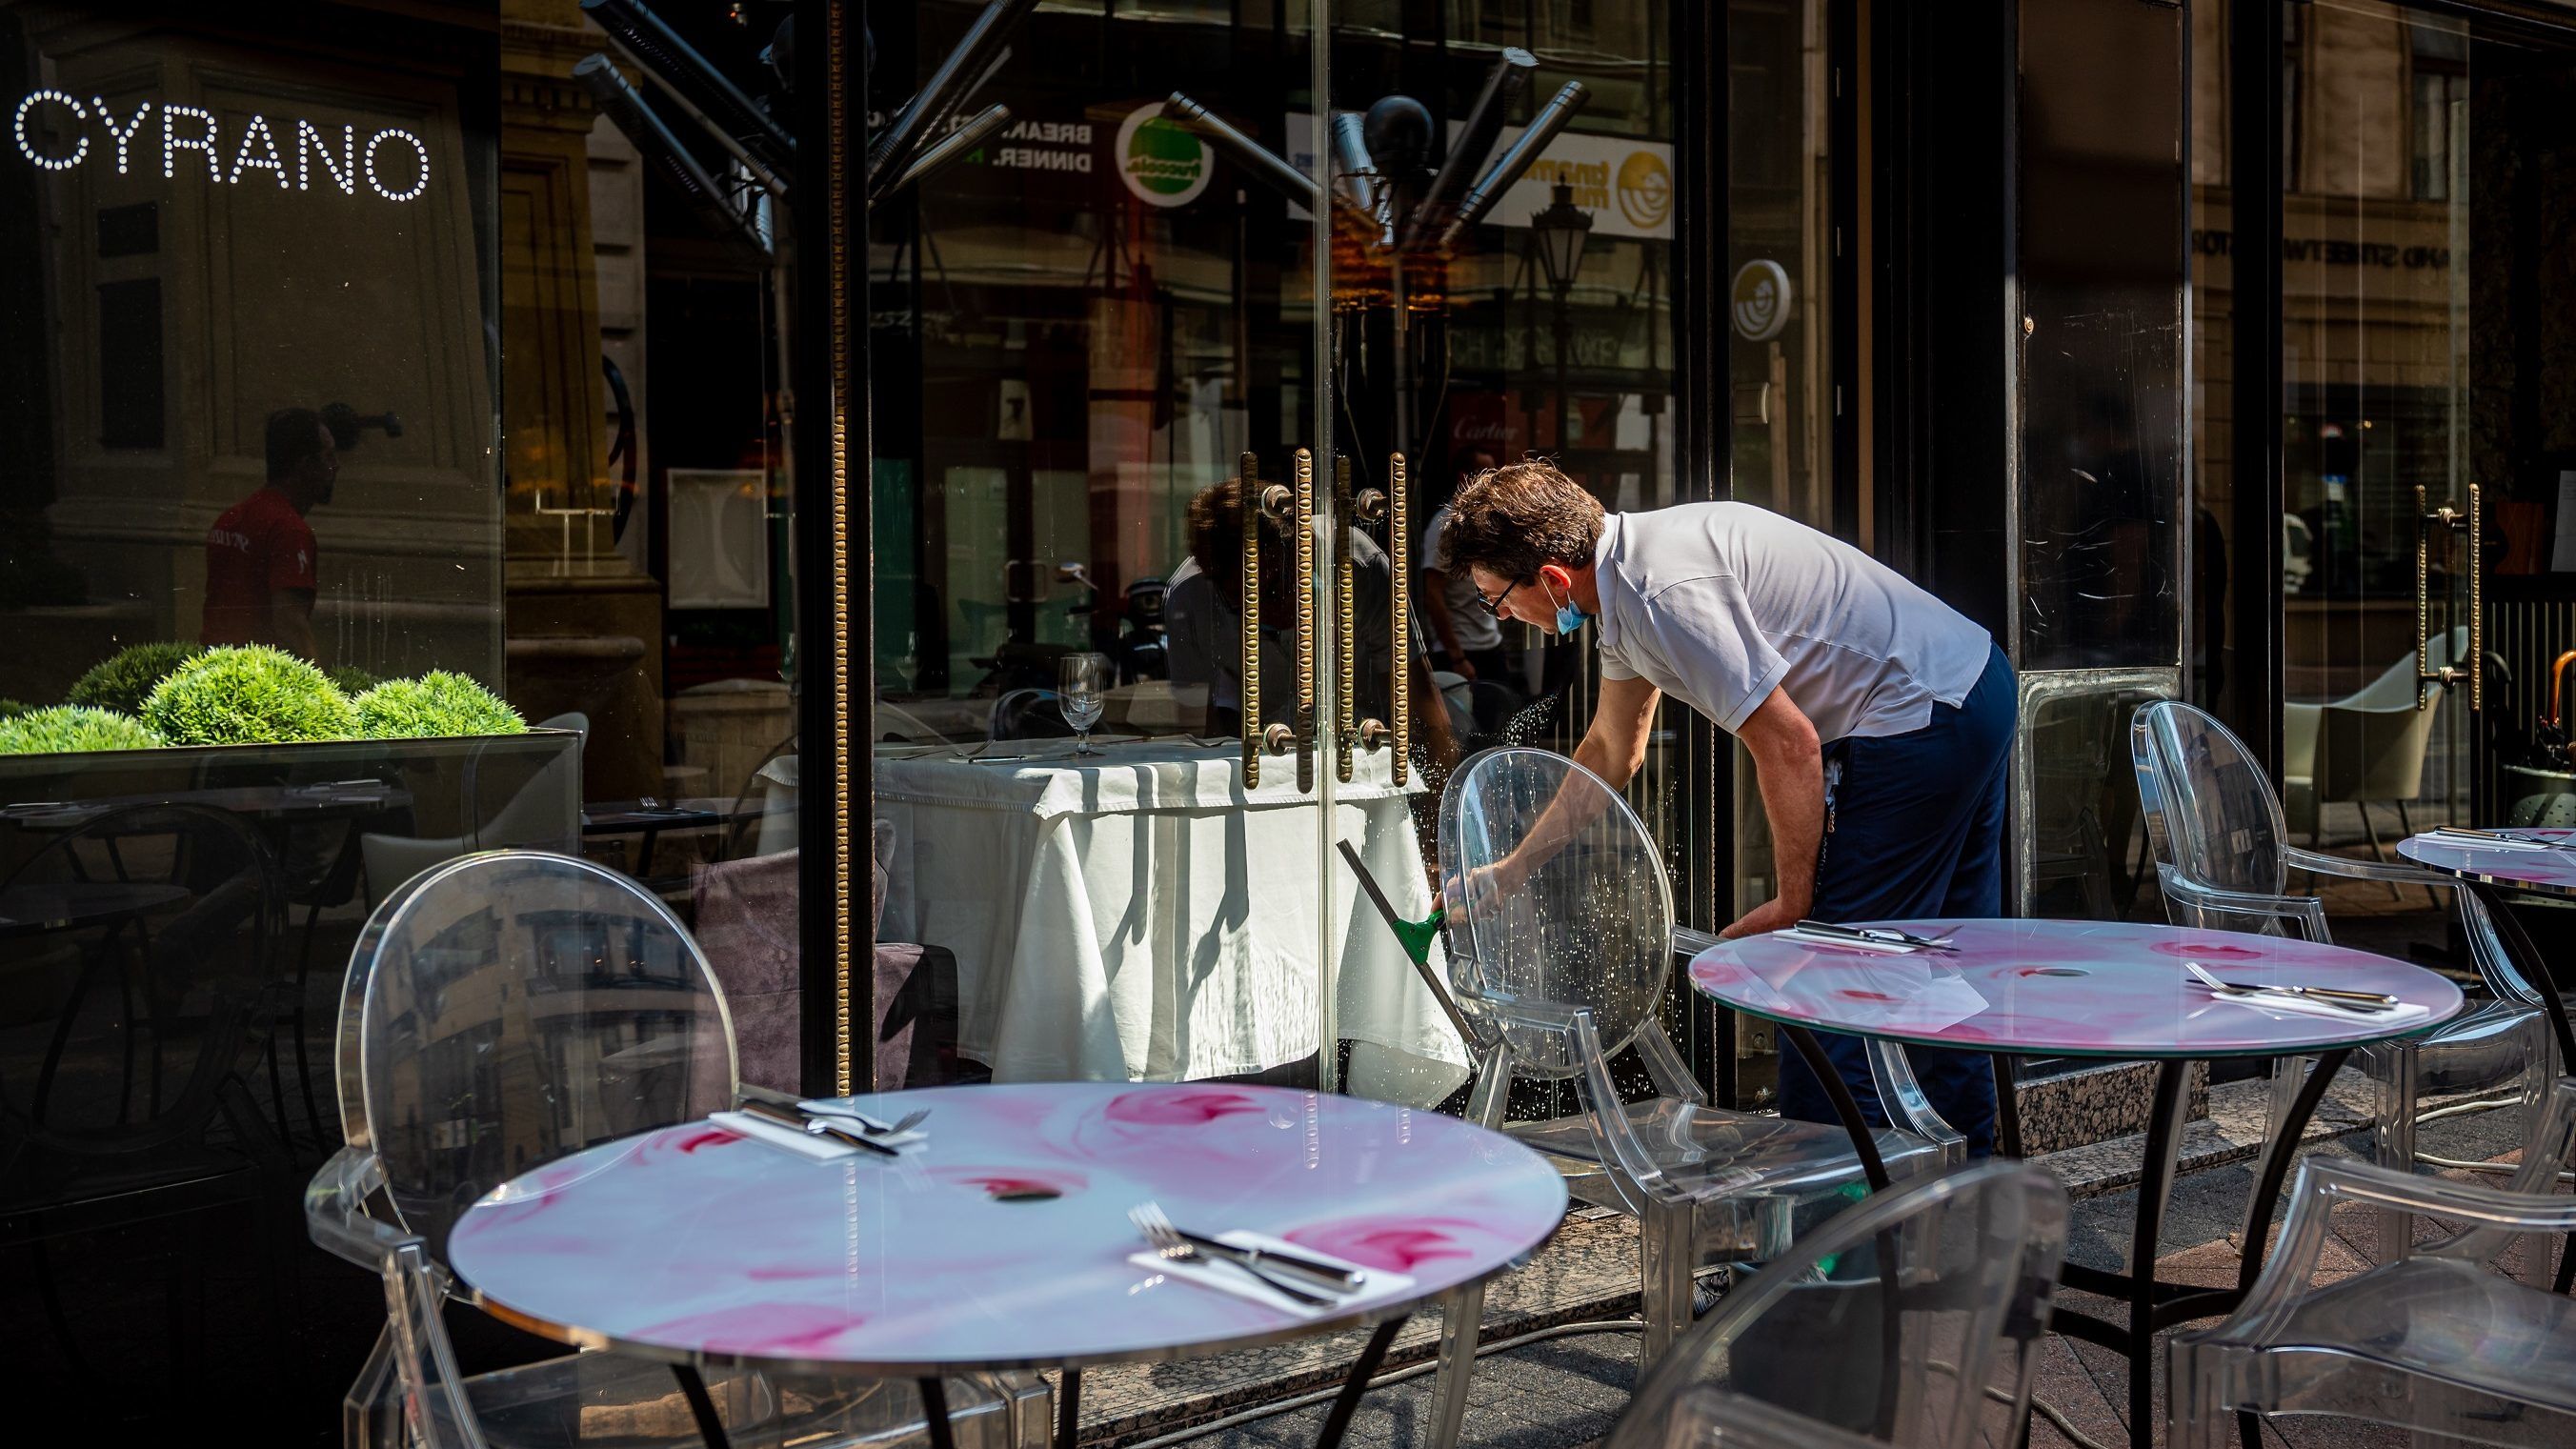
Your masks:
{"label": "clear chair back cropped by bottom edge, between the two pink-topped tables", "polygon": [[2066,1220],[2066,1189],[2027,1163],[1855,1207],[1726,1294],[1607,1449],[2017,1444]]}

